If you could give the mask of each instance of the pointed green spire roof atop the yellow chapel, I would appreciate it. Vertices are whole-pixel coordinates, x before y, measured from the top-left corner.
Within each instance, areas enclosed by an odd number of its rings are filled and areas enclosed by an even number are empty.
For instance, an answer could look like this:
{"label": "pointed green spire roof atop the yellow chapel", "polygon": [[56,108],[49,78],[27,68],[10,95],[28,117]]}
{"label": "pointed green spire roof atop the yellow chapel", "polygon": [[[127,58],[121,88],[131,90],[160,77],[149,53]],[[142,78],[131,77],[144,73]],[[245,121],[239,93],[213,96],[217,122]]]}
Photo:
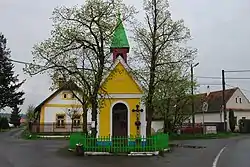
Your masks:
{"label": "pointed green spire roof atop the yellow chapel", "polygon": [[128,38],[126,35],[126,31],[124,29],[122,19],[121,19],[121,13],[118,13],[118,19],[117,19],[117,25],[116,29],[114,31],[111,49],[114,48],[129,48]]}

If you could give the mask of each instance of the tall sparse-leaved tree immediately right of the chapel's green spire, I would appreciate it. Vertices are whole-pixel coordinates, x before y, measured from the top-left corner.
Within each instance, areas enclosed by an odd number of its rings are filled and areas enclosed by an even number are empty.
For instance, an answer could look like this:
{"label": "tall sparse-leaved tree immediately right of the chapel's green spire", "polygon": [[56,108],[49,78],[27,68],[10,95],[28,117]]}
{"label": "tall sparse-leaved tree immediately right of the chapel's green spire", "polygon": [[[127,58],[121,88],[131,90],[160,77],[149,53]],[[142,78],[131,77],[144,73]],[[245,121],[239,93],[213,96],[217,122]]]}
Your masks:
{"label": "tall sparse-leaved tree immediately right of the chapel's green spire", "polygon": [[[183,70],[193,60],[195,49],[185,43],[190,40],[190,32],[183,20],[171,18],[166,0],[144,0],[145,21],[134,28],[137,44],[134,71],[146,88],[147,135],[150,135],[154,112],[153,100],[159,84],[167,84],[169,77],[163,77],[173,67]],[[177,68],[174,68],[176,70]]]}

